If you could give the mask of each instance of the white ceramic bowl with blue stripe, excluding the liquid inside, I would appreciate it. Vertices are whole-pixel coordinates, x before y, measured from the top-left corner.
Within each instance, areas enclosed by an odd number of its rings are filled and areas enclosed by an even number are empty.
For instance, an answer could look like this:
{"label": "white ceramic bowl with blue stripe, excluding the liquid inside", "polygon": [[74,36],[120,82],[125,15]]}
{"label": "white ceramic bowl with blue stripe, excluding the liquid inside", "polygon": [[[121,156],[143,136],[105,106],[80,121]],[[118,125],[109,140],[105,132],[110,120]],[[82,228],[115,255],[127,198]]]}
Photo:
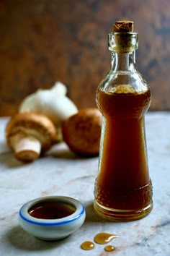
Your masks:
{"label": "white ceramic bowl with blue stripe, excluding the liquid inside", "polygon": [[[39,202],[48,201],[68,203],[69,205],[73,205],[75,211],[69,216],[56,219],[35,218],[30,216],[28,211],[30,208],[32,208],[32,206],[37,205]],[[81,202],[72,197],[59,195],[39,197],[35,200],[31,200],[25,203],[19,210],[19,224],[22,226],[22,229],[37,237],[38,239],[45,241],[59,240],[69,236],[81,227],[85,218],[85,208]]]}

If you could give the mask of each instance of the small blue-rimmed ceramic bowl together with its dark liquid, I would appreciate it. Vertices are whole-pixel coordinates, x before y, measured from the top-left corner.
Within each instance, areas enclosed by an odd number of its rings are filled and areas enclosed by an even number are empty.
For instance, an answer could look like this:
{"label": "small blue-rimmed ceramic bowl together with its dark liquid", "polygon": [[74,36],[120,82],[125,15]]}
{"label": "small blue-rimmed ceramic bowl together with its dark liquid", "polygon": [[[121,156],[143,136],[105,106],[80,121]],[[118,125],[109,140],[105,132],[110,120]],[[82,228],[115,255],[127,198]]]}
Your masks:
{"label": "small blue-rimmed ceramic bowl together with its dark liquid", "polygon": [[[59,205],[54,214],[53,205]],[[58,212],[59,216],[55,216]],[[85,217],[84,205],[64,196],[40,197],[27,202],[19,210],[22,229],[42,240],[58,240],[69,236],[80,228]]]}

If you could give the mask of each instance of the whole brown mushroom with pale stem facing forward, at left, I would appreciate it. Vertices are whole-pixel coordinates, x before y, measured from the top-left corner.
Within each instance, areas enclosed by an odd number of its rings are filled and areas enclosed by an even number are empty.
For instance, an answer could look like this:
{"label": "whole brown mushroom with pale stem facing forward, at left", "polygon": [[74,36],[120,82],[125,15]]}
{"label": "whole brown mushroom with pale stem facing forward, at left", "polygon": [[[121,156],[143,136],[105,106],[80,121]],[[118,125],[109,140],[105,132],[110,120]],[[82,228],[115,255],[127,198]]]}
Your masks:
{"label": "whole brown mushroom with pale stem facing forward, at left", "polygon": [[55,134],[55,125],[42,114],[19,113],[6,124],[6,142],[19,161],[39,158],[53,145]]}

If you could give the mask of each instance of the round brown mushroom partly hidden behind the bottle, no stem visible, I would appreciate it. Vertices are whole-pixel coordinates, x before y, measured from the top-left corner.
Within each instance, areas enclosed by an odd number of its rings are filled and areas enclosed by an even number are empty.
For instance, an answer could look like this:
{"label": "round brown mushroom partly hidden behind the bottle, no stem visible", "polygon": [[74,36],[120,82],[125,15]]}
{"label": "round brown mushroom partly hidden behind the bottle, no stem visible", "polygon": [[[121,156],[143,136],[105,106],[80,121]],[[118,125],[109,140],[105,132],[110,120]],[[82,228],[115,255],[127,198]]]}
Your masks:
{"label": "round brown mushroom partly hidden behind the bottle, no stem visible", "polygon": [[79,155],[98,155],[102,114],[97,108],[83,108],[63,123],[63,140]]}

